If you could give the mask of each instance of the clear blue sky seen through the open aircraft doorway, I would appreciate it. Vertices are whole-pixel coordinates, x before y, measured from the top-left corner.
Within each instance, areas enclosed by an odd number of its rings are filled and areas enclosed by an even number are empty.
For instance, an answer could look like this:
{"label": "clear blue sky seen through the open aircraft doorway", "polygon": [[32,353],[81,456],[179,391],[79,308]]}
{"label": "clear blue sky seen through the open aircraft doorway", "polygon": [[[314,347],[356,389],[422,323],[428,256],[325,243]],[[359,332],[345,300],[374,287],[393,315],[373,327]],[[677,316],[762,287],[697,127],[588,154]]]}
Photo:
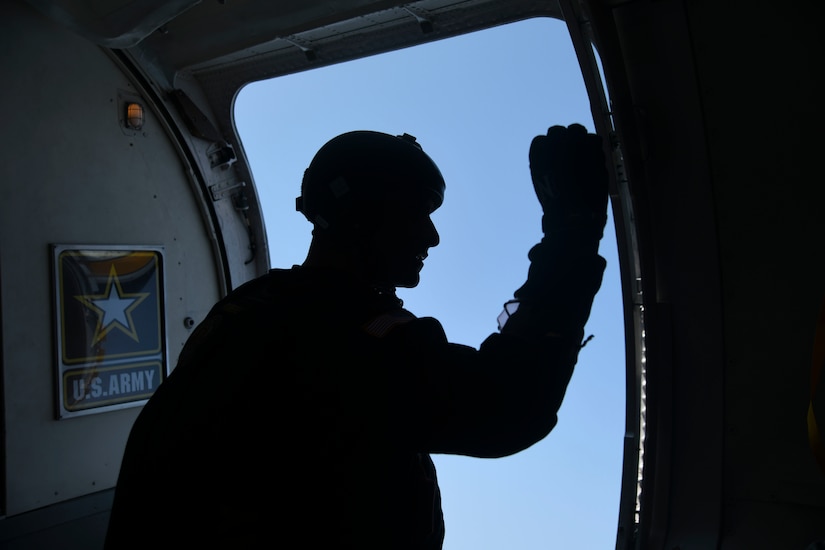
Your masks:
{"label": "clear blue sky seen through the open aircraft doorway", "polygon": [[[444,205],[405,307],[434,316],[451,341],[478,346],[527,274],[541,238],[530,183],[533,136],[554,124],[593,131],[563,22],[533,19],[247,86],[236,125],[254,174],[273,267],[301,263],[311,226],[295,212],[304,169],[350,130],[409,133],[441,168]],[[511,457],[433,457],[445,550],[614,548],[624,434],[624,327],[616,238],[559,424]],[[507,368],[507,365],[502,365]]]}

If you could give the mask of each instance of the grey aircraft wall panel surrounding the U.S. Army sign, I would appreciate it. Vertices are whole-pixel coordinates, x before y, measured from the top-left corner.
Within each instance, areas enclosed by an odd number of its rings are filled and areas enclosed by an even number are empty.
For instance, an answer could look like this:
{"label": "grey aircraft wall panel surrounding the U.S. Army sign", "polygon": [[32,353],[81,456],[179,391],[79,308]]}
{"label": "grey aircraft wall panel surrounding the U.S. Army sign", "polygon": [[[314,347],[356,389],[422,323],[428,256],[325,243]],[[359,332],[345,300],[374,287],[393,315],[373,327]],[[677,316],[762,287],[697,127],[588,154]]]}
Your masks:
{"label": "grey aircraft wall panel surrounding the U.S. Army sign", "polygon": [[[159,250],[159,345],[171,366],[223,282],[187,167],[147,98],[103,49],[28,6],[4,4],[3,12],[0,66],[12,75],[0,107],[8,526],[15,516],[111,489],[139,411],[133,402],[56,419],[61,335],[51,246]],[[140,130],[124,126],[129,100],[146,108]]]}

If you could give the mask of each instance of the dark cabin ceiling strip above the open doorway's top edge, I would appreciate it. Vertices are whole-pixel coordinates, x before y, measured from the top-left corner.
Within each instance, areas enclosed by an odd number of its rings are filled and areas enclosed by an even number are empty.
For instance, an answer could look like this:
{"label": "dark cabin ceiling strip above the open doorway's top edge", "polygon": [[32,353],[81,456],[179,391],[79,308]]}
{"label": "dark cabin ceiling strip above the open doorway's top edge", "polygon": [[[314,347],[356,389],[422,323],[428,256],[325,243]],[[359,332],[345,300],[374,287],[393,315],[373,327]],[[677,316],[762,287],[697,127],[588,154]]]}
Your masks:
{"label": "dark cabin ceiling strip above the open doorway's top edge", "polygon": [[[93,42],[161,65],[170,84],[243,84],[535,16],[557,0],[29,0]],[[365,39],[366,38],[366,39]],[[225,84],[224,84],[225,85]]]}

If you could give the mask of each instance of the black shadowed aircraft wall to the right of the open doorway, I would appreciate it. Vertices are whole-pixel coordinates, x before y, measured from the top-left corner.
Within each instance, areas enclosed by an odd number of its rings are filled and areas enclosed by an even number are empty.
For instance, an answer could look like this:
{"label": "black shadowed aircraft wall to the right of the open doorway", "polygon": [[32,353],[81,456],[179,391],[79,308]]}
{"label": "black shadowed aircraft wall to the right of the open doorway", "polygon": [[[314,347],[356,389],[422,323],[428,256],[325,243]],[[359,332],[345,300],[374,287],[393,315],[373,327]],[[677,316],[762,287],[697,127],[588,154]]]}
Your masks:
{"label": "black shadowed aircraft wall to the right of the open doorway", "polygon": [[641,243],[637,544],[801,550],[825,538],[821,7],[591,4]]}

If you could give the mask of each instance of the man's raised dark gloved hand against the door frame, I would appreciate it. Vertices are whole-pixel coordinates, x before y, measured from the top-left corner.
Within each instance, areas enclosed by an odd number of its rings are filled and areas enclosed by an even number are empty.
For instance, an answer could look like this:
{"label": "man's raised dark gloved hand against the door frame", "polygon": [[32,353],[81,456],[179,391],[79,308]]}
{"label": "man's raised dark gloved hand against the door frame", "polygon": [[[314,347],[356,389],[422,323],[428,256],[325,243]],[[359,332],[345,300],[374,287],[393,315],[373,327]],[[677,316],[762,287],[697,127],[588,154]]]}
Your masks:
{"label": "man's raised dark gloved hand against the door frame", "polygon": [[546,235],[573,231],[601,238],[608,176],[600,136],[580,124],[550,127],[530,144],[530,174]]}

